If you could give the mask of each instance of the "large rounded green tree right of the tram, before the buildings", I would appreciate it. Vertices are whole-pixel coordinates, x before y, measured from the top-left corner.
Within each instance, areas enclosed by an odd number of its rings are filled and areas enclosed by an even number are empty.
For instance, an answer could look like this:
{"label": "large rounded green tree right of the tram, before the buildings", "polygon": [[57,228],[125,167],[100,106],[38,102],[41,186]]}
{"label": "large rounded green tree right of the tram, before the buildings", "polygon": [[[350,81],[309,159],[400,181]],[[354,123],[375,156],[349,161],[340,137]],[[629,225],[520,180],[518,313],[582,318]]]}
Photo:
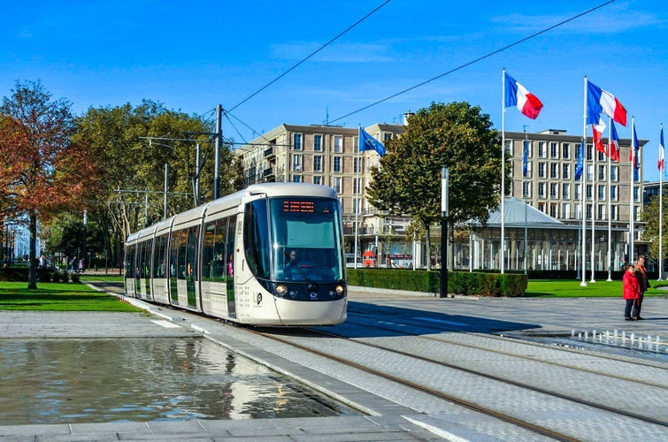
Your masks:
{"label": "large rounded green tree right of the tram, before the buildings", "polygon": [[501,143],[479,106],[432,103],[409,118],[406,132],[387,147],[380,167],[372,168],[370,200],[423,226],[427,250],[430,226],[441,222],[442,167],[449,168],[449,225],[487,224],[488,210],[499,202]]}

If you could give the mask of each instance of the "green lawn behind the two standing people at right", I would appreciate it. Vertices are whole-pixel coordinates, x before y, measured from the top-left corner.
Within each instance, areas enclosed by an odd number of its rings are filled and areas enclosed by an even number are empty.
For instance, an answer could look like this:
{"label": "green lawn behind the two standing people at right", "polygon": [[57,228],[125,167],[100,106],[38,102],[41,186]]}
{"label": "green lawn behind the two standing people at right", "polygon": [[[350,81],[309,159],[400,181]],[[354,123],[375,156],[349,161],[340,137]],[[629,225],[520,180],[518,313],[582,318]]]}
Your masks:
{"label": "green lawn behind the two standing people at right", "polygon": [[[585,279],[586,287],[580,286],[580,279],[531,279],[526,288],[525,297],[528,298],[581,298],[581,297],[622,297],[622,281],[597,280],[590,283]],[[666,296],[667,291],[659,290],[656,281],[649,281],[652,285],[645,296]]]}

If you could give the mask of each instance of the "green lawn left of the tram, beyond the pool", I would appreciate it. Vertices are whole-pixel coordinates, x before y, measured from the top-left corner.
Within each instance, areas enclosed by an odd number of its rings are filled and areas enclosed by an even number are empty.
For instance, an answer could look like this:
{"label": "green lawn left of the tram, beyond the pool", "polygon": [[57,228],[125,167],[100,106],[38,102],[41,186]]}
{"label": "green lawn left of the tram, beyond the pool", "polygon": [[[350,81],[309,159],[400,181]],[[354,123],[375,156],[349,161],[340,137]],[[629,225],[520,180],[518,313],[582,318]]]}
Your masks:
{"label": "green lawn left of the tram, beyond the pool", "polygon": [[0,310],[143,311],[85,284],[40,282],[37,287],[28,290],[26,282],[0,282]]}

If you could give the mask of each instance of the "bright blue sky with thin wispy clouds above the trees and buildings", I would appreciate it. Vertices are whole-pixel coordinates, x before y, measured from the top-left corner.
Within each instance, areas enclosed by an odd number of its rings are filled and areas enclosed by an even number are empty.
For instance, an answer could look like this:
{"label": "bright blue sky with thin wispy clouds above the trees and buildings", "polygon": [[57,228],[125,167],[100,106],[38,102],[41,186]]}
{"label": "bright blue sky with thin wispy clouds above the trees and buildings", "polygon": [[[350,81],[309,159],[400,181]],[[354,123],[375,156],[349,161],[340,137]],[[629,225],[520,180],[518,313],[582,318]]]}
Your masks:
{"label": "bright blue sky with thin wispy clouds above the trees and buildings", "polygon": [[[188,114],[231,110],[383,4],[249,1],[2,0],[0,95],[41,80],[82,114],[143,98]],[[668,123],[668,10],[617,0],[545,34],[365,108],[556,25],[604,0],[391,0],[223,120],[250,141],[282,123],[357,127],[400,123],[432,102],[480,105],[501,129],[502,68],[537,95],[531,120],[506,112],[507,131],[582,133],[584,76],[635,117],[645,179],[658,179],[659,125]],[[590,134],[590,132],[588,132]],[[631,124],[618,126],[629,138]],[[626,160],[626,158],[623,158]]]}

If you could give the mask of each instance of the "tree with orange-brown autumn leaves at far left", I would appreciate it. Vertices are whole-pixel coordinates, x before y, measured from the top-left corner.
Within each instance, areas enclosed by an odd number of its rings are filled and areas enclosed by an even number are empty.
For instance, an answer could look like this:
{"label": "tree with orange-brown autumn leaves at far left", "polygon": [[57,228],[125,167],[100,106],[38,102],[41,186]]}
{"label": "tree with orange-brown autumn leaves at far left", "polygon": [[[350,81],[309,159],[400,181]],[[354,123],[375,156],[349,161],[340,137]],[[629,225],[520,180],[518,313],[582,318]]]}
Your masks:
{"label": "tree with orange-brown autumn leaves at far left", "polygon": [[96,189],[96,164],[87,146],[73,142],[69,102],[51,100],[38,82],[17,81],[0,105],[0,212],[27,219],[28,288],[37,288],[38,223],[62,210],[84,210]]}

